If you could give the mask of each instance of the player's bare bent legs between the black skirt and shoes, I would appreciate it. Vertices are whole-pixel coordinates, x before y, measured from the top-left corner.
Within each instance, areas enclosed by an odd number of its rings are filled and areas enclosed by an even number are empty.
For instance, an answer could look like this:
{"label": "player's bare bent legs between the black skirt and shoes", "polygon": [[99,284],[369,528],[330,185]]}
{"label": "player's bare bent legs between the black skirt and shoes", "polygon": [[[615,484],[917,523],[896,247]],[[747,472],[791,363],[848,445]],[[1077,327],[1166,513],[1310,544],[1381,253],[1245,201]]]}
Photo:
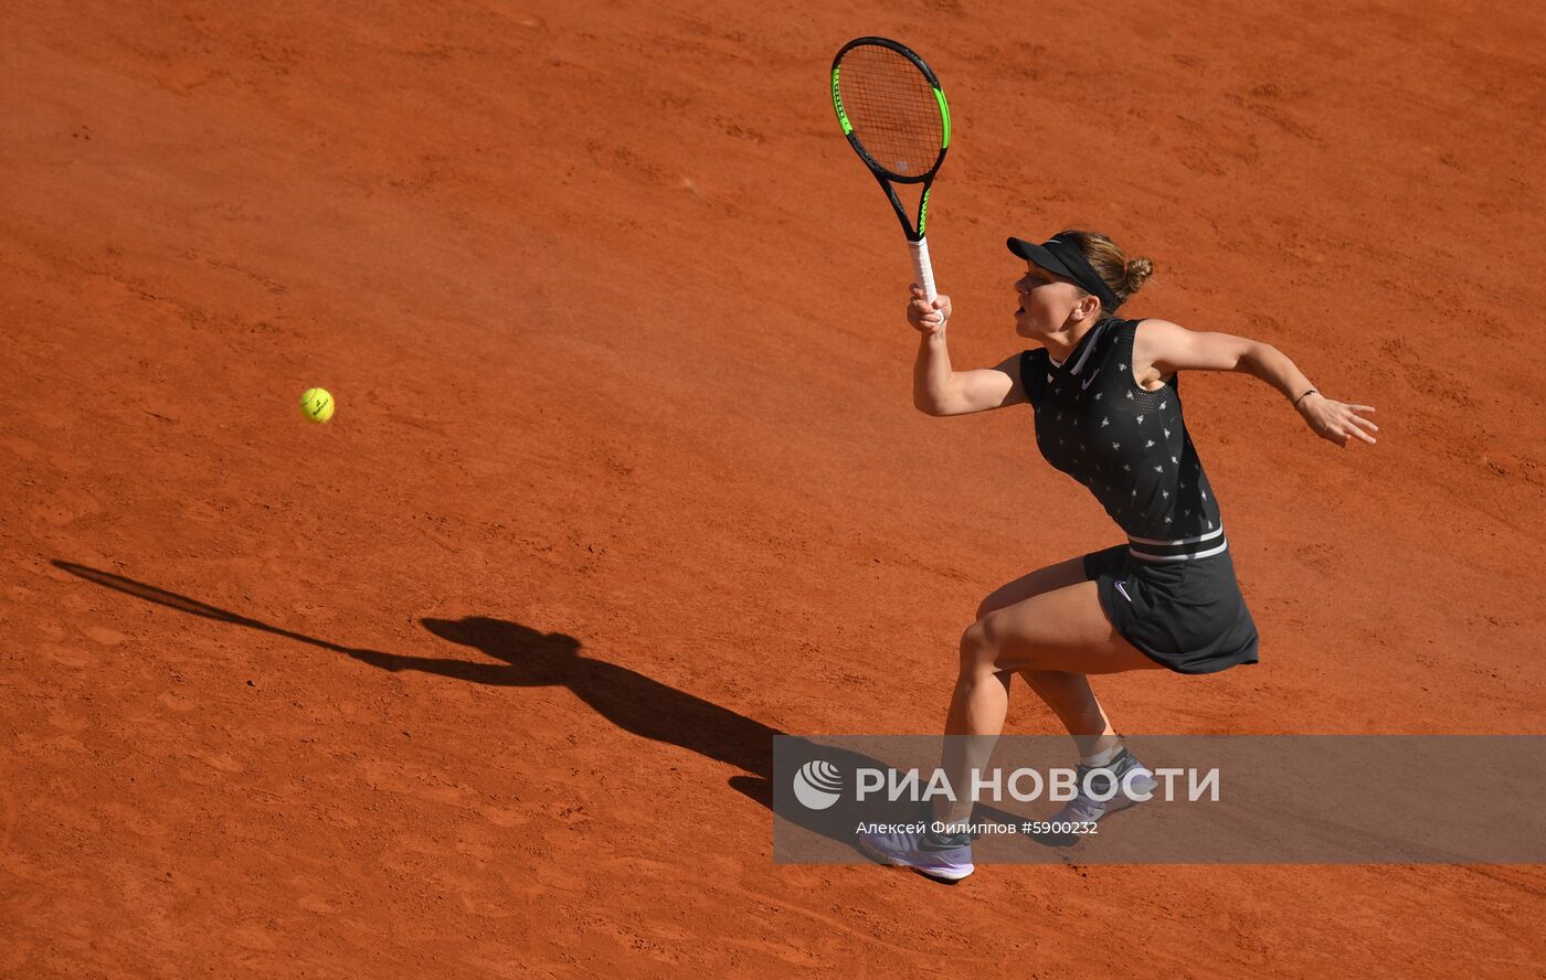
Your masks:
{"label": "player's bare bent legs between the black skirt and shoes", "polygon": [[[943,768],[952,787],[969,787],[972,770],[983,770],[1003,731],[1010,706],[1010,679],[1016,672],[1115,674],[1158,669],[1116,629],[1093,581],[1079,581],[999,607],[972,623],[962,635],[960,668],[951,709],[945,722]],[[1088,682],[1039,677],[1037,694],[1070,726],[1070,734],[1105,736],[1107,723]],[[1045,691],[1045,694],[1044,694]],[[1093,730],[1093,731],[1091,731]],[[957,804],[943,801],[935,816],[948,822],[968,819],[969,795]]]}

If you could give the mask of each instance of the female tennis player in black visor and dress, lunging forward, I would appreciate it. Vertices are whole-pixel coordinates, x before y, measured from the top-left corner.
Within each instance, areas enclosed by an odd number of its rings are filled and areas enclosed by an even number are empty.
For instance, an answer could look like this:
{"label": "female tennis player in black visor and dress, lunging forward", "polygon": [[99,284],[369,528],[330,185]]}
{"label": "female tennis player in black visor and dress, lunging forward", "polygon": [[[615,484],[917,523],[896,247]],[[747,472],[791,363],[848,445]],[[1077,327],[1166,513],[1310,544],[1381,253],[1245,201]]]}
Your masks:
{"label": "female tennis player in black visor and dress, lunging forward", "polygon": [[[1181,414],[1180,371],[1238,371],[1275,388],[1322,439],[1373,444],[1377,427],[1322,396],[1285,354],[1229,334],[1194,332],[1167,320],[1124,320],[1118,308],[1153,272],[1110,238],[1065,230],[1036,244],[1010,238],[1025,260],[1014,283],[1014,332],[1037,349],[994,368],[955,371],[946,349],[949,297],[925,301],[912,288],[908,322],[921,334],[912,399],[931,416],[960,416],[1028,402],[1036,445],[1054,468],[1095,495],[1127,541],[1061,561],[988,595],[960,645],[960,674],[945,720],[943,768],[969,787],[1003,730],[1010,679],[1022,675],[1073,736],[1079,785],[1053,821],[1093,822],[1130,807],[1156,784],[1129,753],[1090,689],[1091,674],[1169,669],[1212,674],[1257,662],[1251,620],[1229,558],[1224,518]],[[1368,431],[1365,431],[1368,430]],[[926,833],[870,835],[861,846],[887,864],[943,880],[972,872],[966,825],[972,801],[934,801]]]}

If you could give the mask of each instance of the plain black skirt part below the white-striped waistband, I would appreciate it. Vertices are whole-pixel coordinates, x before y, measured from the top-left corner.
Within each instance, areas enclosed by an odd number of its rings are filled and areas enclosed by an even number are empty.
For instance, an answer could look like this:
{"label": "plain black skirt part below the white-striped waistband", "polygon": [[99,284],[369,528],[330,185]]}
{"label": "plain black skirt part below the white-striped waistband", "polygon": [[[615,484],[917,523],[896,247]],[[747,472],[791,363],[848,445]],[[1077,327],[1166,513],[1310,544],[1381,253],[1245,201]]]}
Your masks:
{"label": "plain black skirt part below the white-striped waistband", "polygon": [[1144,561],[1118,544],[1084,556],[1116,632],[1178,674],[1257,663],[1257,629],[1229,550],[1189,561]]}

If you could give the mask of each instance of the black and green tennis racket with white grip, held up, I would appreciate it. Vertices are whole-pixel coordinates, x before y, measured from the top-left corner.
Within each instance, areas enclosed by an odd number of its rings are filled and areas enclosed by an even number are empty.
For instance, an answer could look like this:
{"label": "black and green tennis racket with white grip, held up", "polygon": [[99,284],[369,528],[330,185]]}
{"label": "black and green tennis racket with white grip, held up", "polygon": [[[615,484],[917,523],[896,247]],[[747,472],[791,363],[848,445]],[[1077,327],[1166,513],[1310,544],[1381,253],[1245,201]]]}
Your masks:
{"label": "black and green tennis racket with white grip, held up", "polygon": [[[832,59],[832,108],[849,145],[875,175],[912,249],[912,272],[934,301],[934,266],[923,238],[929,189],[951,145],[951,110],[934,71],[906,45],[858,37]],[[923,184],[918,223],[897,196],[897,184]]]}

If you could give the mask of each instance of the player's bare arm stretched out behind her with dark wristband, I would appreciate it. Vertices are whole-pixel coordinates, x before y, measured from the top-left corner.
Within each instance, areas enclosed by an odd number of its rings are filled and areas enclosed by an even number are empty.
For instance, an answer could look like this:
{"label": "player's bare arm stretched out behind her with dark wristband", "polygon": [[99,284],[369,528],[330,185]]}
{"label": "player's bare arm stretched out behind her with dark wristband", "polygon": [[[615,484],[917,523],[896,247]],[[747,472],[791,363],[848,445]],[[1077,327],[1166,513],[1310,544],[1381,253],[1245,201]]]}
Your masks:
{"label": "player's bare arm stretched out behind her with dark wristband", "polygon": [[[1271,343],[1232,334],[1189,331],[1169,320],[1144,320],[1133,340],[1135,366],[1152,363],[1158,377],[1175,371],[1240,371],[1260,377],[1294,403],[1300,417],[1322,439],[1347,448],[1348,441],[1370,445],[1379,427],[1360,413],[1373,405],[1350,405],[1320,394],[1305,373]],[[1368,430],[1368,431],[1365,431]]]}

